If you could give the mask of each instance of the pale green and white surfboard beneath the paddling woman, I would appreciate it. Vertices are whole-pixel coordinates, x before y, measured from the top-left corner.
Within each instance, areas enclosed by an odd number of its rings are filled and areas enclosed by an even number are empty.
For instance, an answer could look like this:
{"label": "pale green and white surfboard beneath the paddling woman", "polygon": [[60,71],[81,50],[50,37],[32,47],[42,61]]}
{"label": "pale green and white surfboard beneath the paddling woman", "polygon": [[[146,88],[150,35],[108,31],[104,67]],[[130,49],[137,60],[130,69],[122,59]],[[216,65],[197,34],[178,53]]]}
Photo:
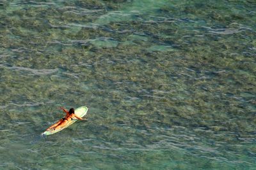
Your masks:
{"label": "pale green and white surfboard beneath the paddling woman", "polygon": [[[81,107],[79,107],[79,108],[77,108],[77,109],[75,110],[75,115],[77,115],[78,117],[84,117],[84,116],[86,115],[87,111],[88,111],[88,108],[86,108],[86,106],[81,106]],[[48,135],[54,134],[54,133],[56,133],[56,132],[60,132],[61,130],[65,129],[66,127],[68,127],[68,126],[74,124],[77,120],[78,120],[77,118],[74,118],[74,120],[71,120],[70,122],[68,122],[68,124],[65,125],[63,128],[57,129],[57,130],[55,130],[55,131],[52,131],[52,130],[50,130],[50,131],[45,131],[45,132],[42,132],[41,135],[42,135],[42,136],[44,136],[44,135],[47,135],[47,136],[48,136]]]}

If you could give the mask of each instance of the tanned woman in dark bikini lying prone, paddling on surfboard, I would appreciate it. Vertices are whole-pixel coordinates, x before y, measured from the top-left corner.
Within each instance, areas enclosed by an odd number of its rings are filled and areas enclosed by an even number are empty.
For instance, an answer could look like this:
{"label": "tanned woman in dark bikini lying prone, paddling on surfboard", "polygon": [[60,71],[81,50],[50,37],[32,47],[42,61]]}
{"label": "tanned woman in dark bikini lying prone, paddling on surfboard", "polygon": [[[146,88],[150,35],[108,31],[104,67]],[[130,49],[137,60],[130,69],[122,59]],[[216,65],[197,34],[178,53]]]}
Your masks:
{"label": "tanned woman in dark bikini lying prone, paddling on surfboard", "polygon": [[61,118],[56,124],[51,125],[46,131],[52,130],[55,131],[56,129],[60,129],[61,127],[64,127],[65,125],[68,124],[68,122],[74,120],[74,118],[78,118],[79,120],[86,120],[85,118],[77,117],[75,115],[75,110],[74,108],[70,108],[70,110],[66,110],[63,107],[60,107],[61,110],[63,110],[66,113],[66,116],[64,118]]}

